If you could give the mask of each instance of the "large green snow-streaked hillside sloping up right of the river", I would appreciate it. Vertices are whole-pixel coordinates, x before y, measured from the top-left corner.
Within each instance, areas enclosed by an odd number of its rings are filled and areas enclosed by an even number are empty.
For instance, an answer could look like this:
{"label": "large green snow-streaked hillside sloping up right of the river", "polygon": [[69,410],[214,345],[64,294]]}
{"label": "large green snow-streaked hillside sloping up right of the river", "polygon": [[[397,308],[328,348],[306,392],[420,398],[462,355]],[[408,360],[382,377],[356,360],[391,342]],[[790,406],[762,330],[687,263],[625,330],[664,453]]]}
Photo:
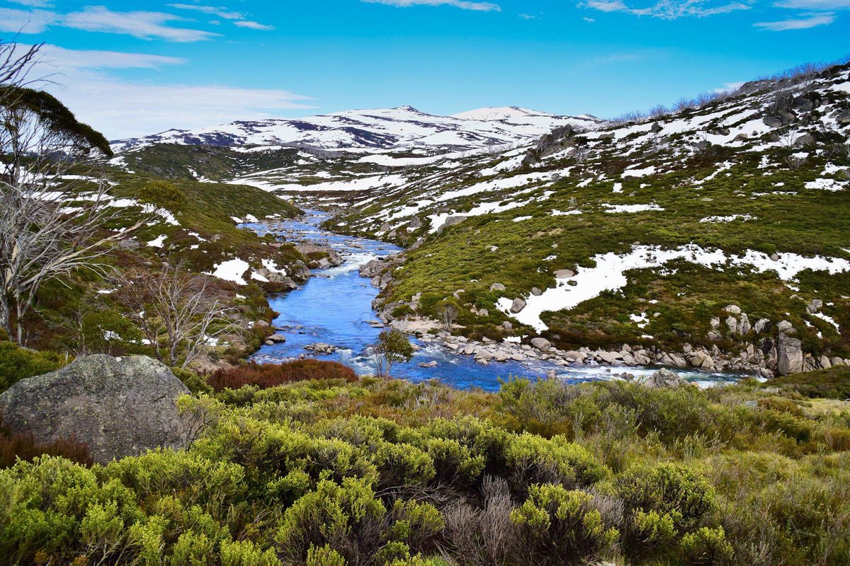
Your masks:
{"label": "large green snow-streaked hillside sloping up right of the river", "polygon": [[[850,357],[848,76],[843,65],[762,81],[530,148],[399,169],[406,182],[352,197],[327,227],[416,243],[383,300],[434,318],[456,302],[467,336],[734,355],[768,351],[787,321],[806,367],[822,367]],[[614,279],[592,280],[617,261]],[[509,311],[517,298],[529,307]],[[736,331],[729,305],[769,324]]]}

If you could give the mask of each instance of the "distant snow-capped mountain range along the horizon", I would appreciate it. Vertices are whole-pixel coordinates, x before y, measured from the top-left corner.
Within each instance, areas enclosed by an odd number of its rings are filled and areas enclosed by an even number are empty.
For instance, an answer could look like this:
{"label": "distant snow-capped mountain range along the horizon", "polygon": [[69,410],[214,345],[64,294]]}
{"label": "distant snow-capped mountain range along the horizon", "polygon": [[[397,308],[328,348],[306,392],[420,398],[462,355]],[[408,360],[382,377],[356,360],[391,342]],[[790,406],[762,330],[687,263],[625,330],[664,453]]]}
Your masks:
{"label": "distant snow-capped mountain range along the horizon", "polygon": [[305,145],[331,150],[473,150],[528,143],[558,126],[595,129],[604,120],[591,115],[562,116],[516,107],[471,110],[453,116],[429,115],[411,106],[348,110],[294,120],[235,121],[200,130],[168,130],[119,140],[126,152],[154,143],[213,146]]}

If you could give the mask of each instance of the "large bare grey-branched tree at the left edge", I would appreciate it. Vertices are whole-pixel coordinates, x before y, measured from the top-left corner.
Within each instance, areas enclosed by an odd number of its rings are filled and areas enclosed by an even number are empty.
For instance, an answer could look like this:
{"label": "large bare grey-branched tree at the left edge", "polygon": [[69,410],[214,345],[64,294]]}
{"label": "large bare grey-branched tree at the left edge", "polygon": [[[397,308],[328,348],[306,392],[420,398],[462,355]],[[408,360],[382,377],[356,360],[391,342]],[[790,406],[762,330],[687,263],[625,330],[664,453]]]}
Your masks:
{"label": "large bare grey-branched tree at the left edge", "polygon": [[142,223],[105,231],[120,213],[105,180],[68,176],[89,152],[109,146],[58,100],[30,88],[37,52],[0,42],[0,328],[18,344],[43,283],[81,268],[105,272],[99,260]]}

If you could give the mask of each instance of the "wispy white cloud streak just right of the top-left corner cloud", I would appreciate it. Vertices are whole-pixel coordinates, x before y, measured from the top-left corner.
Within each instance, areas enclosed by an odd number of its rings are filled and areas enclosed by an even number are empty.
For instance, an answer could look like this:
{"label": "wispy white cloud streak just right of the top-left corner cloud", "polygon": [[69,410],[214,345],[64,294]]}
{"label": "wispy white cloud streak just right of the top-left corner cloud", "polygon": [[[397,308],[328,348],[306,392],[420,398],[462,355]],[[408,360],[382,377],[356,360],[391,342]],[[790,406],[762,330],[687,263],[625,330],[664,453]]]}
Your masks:
{"label": "wispy white cloud streak just right of the top-left corner cloud", "polygon": [[155,37],[169,42],[198,42],[218,36],[210,31],[172,27],[168,22],[182,18],[162,12],[113,12],[105,6],[87,6],[81,12],[71,12],[61,17],[61,25],[85,31],[127,34],[141,39]]}

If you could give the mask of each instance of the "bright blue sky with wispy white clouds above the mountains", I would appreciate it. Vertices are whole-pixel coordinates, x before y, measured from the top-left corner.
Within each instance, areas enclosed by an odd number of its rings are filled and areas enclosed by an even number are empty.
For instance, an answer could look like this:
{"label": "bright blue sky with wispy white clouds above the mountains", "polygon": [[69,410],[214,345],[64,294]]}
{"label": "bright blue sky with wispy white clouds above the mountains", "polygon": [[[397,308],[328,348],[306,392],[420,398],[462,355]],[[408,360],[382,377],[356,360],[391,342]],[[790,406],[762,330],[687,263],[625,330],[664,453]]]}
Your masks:
{"label": "bright blue sky with wispy white clouds above the mountains", "polygon": [[0,0],[108,137],[411,104],[602,117],[850,54],[850,0]]}

